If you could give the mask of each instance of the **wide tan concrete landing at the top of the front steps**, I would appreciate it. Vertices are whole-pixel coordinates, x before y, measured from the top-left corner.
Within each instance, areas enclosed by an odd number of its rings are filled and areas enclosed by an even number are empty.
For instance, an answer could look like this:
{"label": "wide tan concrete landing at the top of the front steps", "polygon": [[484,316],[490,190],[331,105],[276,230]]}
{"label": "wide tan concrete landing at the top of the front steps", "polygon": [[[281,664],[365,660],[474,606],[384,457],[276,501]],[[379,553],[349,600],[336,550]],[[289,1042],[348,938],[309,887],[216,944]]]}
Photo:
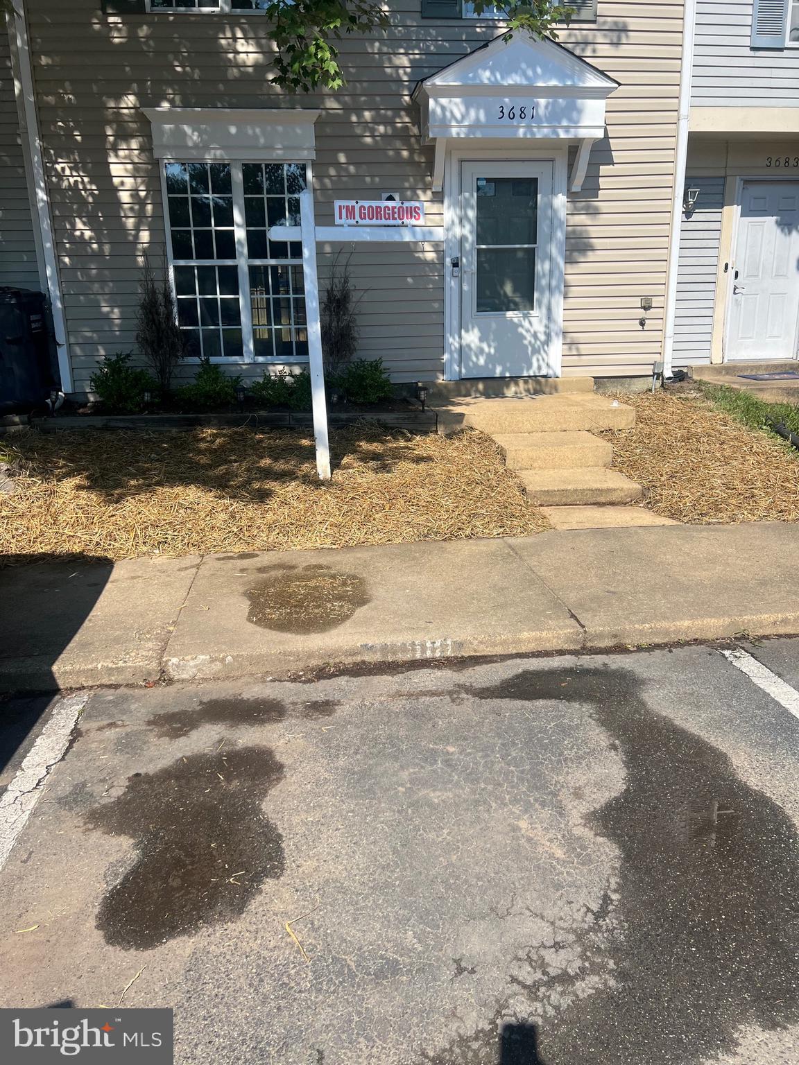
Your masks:
{"label": "wide tan concrete landing at the top of the front steps", "polygon": [[631,429],[635,411],[592,392],[528,396],[523,399],[470,398],[435,404],[441,432],[462,428],[483,432],[567,432],[580,429]]}

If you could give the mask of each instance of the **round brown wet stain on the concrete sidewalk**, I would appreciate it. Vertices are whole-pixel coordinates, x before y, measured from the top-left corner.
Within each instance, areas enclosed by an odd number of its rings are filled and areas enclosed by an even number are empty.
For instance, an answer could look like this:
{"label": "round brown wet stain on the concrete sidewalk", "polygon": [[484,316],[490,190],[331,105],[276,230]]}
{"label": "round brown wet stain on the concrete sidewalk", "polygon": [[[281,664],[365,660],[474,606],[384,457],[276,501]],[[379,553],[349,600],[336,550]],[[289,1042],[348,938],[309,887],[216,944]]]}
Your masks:
{"label": "round brown wet stain on the concrete sidewalk", "polygon": [[247,621],[277,633],[328,633],[371,602],[362,577],[329,566],[268,568],[247,591]]}

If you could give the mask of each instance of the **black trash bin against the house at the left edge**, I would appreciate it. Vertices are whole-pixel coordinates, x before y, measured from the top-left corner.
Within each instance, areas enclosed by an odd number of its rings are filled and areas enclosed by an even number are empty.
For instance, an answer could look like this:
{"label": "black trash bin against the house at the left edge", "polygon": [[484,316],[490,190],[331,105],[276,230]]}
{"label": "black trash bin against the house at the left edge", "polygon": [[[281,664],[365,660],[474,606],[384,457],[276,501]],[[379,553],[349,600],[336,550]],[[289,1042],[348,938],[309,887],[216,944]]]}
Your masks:
{"label": "black trash bin against the house at the left edge", "polygon": [[59,388],[40,292],[0,288],[0,413],[45,405]]}

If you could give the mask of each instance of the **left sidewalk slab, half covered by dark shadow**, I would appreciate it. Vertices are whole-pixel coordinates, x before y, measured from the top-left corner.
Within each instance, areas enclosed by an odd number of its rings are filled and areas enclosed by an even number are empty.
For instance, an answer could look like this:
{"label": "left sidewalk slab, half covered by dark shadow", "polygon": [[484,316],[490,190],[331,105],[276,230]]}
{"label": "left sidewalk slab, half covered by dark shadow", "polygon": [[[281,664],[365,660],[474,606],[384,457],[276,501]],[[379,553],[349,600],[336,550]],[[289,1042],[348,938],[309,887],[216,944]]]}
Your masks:
{"label": "left sidewalk slab, half covered by dark shadow", "polygon": [[158,679],[199,556],[0,570],[0,691]]}

